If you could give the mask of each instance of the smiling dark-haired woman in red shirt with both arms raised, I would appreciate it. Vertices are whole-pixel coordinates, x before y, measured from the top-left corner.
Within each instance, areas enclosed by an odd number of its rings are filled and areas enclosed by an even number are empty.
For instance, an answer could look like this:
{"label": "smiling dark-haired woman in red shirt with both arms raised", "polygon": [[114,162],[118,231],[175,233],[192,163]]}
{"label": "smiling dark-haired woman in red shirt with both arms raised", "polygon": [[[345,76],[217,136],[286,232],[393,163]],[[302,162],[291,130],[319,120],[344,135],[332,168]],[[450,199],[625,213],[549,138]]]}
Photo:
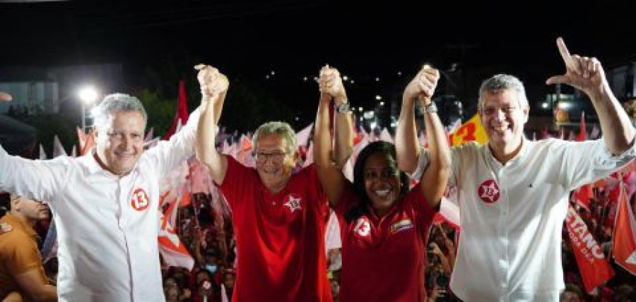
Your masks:
{"label": "smiling dark-haired woman in red shirt with both arms raised", "polygon": [[[341,226],[340,301],[425,301],[426,243],[450,167],[444,127],[431,102],[440,73],[422,68],[402,97],[402,111],[423,107],[431,161],[418,185],[397,167],[393,144],[376,141],[360,151],[353,183],[331,157],[329,111],[335,104],[336,146],[351,145],[351,118],[338,71],[324,68],[314,132],[318,176]],[[342,150],[348,147],[341,147]]]}

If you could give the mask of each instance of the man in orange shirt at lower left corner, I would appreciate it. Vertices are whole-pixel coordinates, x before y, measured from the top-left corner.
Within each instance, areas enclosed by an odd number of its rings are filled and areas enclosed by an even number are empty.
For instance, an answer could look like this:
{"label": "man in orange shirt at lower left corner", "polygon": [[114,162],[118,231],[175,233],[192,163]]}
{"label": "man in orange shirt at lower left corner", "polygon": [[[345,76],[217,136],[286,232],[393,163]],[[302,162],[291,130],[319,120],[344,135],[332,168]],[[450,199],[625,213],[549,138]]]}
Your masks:
{"label": "man in orange shirt at lower left corner", "polygon": [[11,194],[8,209],[0,218],[0,301],[57,301],[34,229],[37,222],[49,219],[47,203]]}

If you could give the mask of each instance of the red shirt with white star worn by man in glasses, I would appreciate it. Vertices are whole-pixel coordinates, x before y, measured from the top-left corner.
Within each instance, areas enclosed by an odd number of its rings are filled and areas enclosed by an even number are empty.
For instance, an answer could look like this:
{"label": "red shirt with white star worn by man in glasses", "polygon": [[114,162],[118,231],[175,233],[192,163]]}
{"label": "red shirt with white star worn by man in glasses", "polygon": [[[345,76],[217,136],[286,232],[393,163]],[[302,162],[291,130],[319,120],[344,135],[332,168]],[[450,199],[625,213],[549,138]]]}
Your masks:
{"label": "red shirt with white star worn by man in glasses", "polygon": [[328,207],[315,167],[272,194],[256,169],[228,157],[219,188],[236,236],[232,301],[331,301],[324,253]]}

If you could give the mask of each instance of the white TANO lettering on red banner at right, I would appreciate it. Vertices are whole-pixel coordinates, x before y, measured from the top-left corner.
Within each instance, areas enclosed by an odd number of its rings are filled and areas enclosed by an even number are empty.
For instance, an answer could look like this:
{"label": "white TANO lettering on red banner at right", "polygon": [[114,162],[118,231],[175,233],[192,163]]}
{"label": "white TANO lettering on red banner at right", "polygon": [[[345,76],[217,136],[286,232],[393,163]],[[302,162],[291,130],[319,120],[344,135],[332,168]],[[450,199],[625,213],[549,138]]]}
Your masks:
{"label": "white TANO lettering on red banner at right", "polygon": [[603,255],[603,251],[594,237],[587,230],[587,224],[579,217],[577,212],[570,207],[567,211],[567,216],[565,217],[565,223],[569,229],[568,234],[570,234],[570,239],[572,239],[572,244],[575,245],[585,258],[589,262],[593,262],[594,259],[603,259],[605,256]]}

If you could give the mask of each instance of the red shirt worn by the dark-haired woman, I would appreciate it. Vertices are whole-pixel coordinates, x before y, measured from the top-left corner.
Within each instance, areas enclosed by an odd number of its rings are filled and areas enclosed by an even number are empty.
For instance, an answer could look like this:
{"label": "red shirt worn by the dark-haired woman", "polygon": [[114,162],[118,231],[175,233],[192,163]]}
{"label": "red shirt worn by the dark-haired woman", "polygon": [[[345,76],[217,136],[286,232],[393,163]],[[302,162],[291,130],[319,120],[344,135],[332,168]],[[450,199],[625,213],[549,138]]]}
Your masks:
{"label": "red shirt worn by the dark-haired woman", "polygon": [[425,301],[426,242],[436,210],[420,185],[383,217],[367,206],[360,218],[346,222],[359,203],[349,186],[335,209],[342,238],[340,301]]}

